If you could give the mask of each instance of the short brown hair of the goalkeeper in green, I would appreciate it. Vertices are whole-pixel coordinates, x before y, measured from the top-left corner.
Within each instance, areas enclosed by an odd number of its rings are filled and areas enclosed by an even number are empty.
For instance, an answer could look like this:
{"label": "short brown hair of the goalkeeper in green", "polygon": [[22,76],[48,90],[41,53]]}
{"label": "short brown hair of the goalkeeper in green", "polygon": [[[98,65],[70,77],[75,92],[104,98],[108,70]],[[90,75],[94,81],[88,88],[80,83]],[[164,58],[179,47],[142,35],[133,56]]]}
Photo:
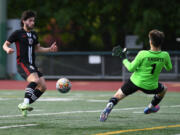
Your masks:
{"label": "short brown hair of the goalkeeper in green", "polygon": [[151,40],[151,43],[155,47],[161,47],[164,41],[164,37],[165,37],[164,33],[159,30],[155,29],[149,32],[149,39]]}

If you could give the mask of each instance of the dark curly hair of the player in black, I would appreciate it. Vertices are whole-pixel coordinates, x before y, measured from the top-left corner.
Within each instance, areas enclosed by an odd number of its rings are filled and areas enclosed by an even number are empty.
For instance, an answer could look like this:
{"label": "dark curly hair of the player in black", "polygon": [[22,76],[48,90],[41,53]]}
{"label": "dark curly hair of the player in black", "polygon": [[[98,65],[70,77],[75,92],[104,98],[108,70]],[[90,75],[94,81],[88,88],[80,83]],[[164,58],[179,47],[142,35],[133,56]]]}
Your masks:
{"label": "dark curly hair of the player in black", "polygon": [[36,18],[36,12],[32,10],[26,10],[22,13],[21,16],[21,27],[24,26],[23,21],[27,20],[28,18],[35,17]]}

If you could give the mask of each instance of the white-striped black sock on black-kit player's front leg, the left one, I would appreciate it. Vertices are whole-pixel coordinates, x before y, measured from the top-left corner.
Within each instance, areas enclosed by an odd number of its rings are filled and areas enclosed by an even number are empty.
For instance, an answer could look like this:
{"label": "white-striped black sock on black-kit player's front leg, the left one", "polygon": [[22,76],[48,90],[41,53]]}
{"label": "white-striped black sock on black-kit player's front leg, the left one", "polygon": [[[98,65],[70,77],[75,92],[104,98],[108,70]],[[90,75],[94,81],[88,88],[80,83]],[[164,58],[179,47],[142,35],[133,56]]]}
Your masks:
{"label": "white-striped black sock on black-kit player's front leg, the left one", "polygon": [[34,89],[36,88],[36,86],[37,83],[31,82],[26,88],[24,98],[28,98],[30,103],[37,99],[36,95],[34,95]]}

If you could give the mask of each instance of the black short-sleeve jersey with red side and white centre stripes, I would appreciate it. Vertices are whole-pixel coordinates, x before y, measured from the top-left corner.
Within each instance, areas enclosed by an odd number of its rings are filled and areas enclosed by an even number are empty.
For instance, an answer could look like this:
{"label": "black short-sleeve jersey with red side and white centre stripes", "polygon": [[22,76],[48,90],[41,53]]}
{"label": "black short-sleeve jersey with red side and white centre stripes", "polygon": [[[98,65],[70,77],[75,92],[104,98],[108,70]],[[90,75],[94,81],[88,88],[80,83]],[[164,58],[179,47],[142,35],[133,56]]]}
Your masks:
{"label": "black short-sleeve jersey with red side and white centre stripes", "polygon": [[35,65],[35,46],[39,43],[35,31],[26,32],[24,29],[14,31],[7,39],[15,42],[17,50],[17,63],[20,62]]}

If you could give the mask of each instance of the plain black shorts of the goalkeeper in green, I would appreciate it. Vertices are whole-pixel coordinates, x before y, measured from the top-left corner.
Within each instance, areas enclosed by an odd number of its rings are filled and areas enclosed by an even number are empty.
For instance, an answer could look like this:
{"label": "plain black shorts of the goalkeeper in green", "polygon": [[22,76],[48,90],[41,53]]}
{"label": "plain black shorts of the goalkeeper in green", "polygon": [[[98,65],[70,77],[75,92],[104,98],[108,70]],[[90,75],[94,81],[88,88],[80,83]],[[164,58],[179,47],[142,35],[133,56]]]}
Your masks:
{"label": "plain black shorts of the goalkeeper in green", "polygon": [[164,91],[164,85],[161,83],[158,83],[158,88],[153,90],[146,90],[143,88],[140,88],[136,86],[130,79],[123,84],[121,87],[122,92],[127,96],[130,94],[133,94],[134,92],[140,90],[146,94],[159,94]]}

